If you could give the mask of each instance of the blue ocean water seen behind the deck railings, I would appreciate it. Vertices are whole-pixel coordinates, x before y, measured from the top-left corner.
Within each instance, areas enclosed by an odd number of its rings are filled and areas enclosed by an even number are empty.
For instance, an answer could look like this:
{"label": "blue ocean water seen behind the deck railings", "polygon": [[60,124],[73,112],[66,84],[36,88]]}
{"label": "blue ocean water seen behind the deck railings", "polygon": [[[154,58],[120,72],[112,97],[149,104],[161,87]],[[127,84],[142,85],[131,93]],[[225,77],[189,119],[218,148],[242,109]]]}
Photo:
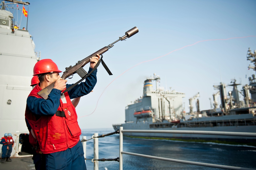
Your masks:
{"label": "blue ocean water seen behind the deck railings", "polygon": [[[114,129],[89,129],[82,130],[82,136],[87,140],[94,133],[107,134],[114,132]],[[117,158],[119,157],[119,134],[110,135],[99,139],[99,158]],[[93,139],[87,141],[86,158],[93,158]],[[256,147],[247,145],[228,145],[216,143],[199,143],[199,142],[179,142],[170,140],[149,140],[124,137],[123,151],[133,152],[158,157],[220,164],[228,166],[237,166],[256,169]],[[86,160],[88,170],[94,169],[90,160]],[[99,162],[99,170],[119,169],[119,162],[105,161]],[[144,157],[123,155],[123,169],[219,169],[205,166],[189,165],[149,159]]]}

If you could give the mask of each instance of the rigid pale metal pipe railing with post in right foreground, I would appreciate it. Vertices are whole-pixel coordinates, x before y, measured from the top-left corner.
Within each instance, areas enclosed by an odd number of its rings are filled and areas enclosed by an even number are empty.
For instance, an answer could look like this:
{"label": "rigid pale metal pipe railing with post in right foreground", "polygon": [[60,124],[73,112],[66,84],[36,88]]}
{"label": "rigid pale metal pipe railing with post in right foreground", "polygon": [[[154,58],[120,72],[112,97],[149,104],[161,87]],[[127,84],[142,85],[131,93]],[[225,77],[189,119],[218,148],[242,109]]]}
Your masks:
{"label": "rigid pale metal pipe railing with post in right foreground", "polygon": [[119,136],[119,170],[123,169],[123,154],[140,156],[140,157],[162,160],[162,161],[213,167],[213,168],[234,169],[234,170],[238,170],[238,169],[239,170],[252,170],[251,168],[177,160],[177,159],[172,159],[172,158],[165,158],[165,157],[125,152],[125,151],[123,151],[123,133],[125,133],[125,132],[129,132],[129,133],[178,133],[178,134],[202,134],[202,135],[226,135],[226,136],[256,137],[256,133],[249,133],[249,132],[218,132],[218,131],[192,131],[192,130],[123,130],[123,127],[120,127],[120,129],[119,129],[119,135],[120,135]]}

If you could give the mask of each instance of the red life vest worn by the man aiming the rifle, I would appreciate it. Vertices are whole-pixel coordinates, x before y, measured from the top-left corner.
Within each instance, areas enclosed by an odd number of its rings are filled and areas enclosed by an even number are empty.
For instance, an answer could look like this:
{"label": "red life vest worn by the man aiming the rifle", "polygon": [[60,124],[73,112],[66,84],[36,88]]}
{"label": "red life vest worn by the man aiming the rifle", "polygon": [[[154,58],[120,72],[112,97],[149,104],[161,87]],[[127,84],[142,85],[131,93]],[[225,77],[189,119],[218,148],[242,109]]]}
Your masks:
{"label": "red life vest worn by the man aiming the rifle", "polygon": [[[40,86],[36,85],[29,96],[42,98],[37,95],[40,90],[42,90]],[[81,129],[77,122],[76,110],[67,92],[61,96],[60,106],[57,110],[63,111],[65,117],[55,114],[54,116],[41,116],[36,120],[35,115],[26,106],[25,117],[39,142],[40,151],[44,154],[65,151],[80,141]],[[33,146],[35,145],[33,136],[29,138],[29,142]]]}

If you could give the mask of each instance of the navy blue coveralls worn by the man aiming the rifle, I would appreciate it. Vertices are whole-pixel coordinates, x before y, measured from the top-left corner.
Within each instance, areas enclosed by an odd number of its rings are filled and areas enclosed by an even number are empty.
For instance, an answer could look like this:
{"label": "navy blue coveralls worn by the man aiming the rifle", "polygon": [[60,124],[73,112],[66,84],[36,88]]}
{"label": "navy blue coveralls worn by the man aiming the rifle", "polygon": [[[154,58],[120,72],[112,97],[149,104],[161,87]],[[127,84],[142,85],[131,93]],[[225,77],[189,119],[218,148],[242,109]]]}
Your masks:
{"label": "navy blue coveralls worn by the man aiming the rifle", "polygon": [[[91,72],[89,68],[88,72]],[[86,78],[85,82],[81,82],[68,91],[70,99],[87,95],[93,90],[96,85],[97,69]],[[71,84],[72,85],[72,84]],[[71,86],[66,85],[66,88]],[[52,89],[48,95],[48,99],[36,98],[29,96],[27,98],[27,106],[36,116],[53,116],[60,105],[60,90]],[[54,152],[50,154],[42,154],[45,156],[46,169],[85,169],[84,150],[81,142],[78,142],[73,148],[68,148],[65,151]],[[42,157],[43,157],[42,156]],[[42,157],[34,155],[34,164],[41,161]],[[36,168],[37,169],[37,168]],[[41,168],[42,169],[42,168]]]}

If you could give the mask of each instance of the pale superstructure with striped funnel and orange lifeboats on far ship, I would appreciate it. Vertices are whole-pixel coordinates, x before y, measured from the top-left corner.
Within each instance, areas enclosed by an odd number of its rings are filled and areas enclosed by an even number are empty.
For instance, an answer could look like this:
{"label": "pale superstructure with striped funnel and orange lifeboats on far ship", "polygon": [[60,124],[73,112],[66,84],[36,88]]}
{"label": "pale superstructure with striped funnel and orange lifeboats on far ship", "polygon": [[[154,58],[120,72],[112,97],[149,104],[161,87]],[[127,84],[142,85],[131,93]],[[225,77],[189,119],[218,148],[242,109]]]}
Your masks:
{"label": "pale superstructure with striped funnel and orange lifeboats on far ship", "polygon": [[[179,119],[180,113],[183,112],[182,98],[185,94],[157,88],[159,80],[160,77],[154,74],[144,81],[143,96],[125,109],[127,122],[171,122]],[[156,82],[156,90],[153,89],[153,81]]]}

